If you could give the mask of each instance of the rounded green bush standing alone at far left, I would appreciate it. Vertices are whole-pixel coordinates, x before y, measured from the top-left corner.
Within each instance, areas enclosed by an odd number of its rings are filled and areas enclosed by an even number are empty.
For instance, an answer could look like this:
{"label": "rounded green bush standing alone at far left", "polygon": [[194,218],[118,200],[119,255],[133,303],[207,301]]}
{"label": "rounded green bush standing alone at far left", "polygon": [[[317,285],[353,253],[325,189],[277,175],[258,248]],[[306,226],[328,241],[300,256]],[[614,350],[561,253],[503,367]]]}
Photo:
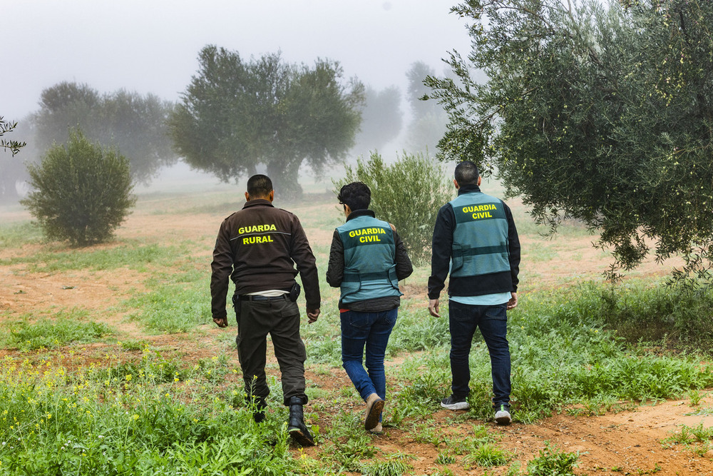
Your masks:
{"label": "rounded green bush standing alone at far left", "polygon": [[72,245],[106,241],[135,203],[128,159],[91,143],[78,128],[66,146],[51,147],[28,172],[34,191],[21,203],[50,239]]}

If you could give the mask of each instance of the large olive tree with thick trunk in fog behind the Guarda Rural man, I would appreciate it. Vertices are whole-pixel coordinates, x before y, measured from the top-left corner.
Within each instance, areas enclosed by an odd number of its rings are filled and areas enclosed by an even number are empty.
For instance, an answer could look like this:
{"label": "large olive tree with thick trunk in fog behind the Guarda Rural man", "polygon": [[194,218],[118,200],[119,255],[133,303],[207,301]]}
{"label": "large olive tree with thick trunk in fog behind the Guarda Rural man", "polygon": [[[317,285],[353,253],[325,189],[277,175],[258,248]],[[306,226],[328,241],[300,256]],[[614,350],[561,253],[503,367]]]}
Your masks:
{"label": "large olive tree with thick trunk in fog behind the Guarda Rural man", "polygon": [[222,181],[265,166],[281,196],[302,193],[303,162],[316,172],[354,145],[364,86],[335,61],[288,64],[279,53],[245,61],[205,46],[199,69],[170,117],[175,150]]}

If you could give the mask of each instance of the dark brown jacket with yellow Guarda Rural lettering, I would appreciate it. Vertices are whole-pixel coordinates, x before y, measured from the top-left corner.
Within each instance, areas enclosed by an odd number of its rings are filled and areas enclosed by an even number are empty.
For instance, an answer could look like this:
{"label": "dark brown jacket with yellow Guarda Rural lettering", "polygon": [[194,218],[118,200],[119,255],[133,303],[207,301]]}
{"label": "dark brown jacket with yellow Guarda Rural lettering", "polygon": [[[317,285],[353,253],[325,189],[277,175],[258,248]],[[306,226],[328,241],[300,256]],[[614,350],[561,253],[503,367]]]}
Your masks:
{"label": "dark brown jacket with yellow Guarda Rural lettering", "polygon": [[[294,265],[297,265],[295,270]],[[228,277],[237,295],[269,289],[289,290],[299,272],[307,309],[319,308],[319,277],[312,248],[297,216],[268,200],[245,203],[220,225],[210,264],[211,311],[225,318]]]}

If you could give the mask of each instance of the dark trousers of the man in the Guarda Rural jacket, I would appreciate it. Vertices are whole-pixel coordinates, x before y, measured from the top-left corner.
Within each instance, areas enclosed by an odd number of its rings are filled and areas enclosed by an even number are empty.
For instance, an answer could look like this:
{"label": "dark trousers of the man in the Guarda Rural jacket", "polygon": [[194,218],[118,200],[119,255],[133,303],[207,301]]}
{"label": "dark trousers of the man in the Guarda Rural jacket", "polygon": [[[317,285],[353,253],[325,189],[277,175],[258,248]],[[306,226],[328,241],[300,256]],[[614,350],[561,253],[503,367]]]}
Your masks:
{"label": "dark trousers of the man in the Guarda Rural jacket", "polygon": [[267,335],[270,334],[282,374],[284,405],[289,406],[292,397],[300,397],[302,404],[306,404],[304,360],[307,359],[307,353],[299,336],[297,303],[284,298],[250,301],[236,296],[233,304],[237,317],[237,358],[240,360],[248,400],[270,395],[265,378]]}

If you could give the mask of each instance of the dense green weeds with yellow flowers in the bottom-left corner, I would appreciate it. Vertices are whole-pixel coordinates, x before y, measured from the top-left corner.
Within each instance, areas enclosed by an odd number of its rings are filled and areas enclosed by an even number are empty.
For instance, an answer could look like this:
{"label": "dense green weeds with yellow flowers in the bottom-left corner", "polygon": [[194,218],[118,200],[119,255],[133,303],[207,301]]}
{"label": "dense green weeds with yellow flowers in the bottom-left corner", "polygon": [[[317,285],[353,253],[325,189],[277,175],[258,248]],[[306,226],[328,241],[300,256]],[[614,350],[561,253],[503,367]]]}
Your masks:
{"label": "dense green weeds with yellow flowers in the bottom-left corner", "polygon": [[[180,365],[144,365],[165,363]],[[189,387],[127,378],[135,369],[103,381],[43,365],[2,365],[0,474],[278,475],[297,465],[281,422],[258,427],[249,411],[216,398],[198,370],[184,375],[198,383]]]}

